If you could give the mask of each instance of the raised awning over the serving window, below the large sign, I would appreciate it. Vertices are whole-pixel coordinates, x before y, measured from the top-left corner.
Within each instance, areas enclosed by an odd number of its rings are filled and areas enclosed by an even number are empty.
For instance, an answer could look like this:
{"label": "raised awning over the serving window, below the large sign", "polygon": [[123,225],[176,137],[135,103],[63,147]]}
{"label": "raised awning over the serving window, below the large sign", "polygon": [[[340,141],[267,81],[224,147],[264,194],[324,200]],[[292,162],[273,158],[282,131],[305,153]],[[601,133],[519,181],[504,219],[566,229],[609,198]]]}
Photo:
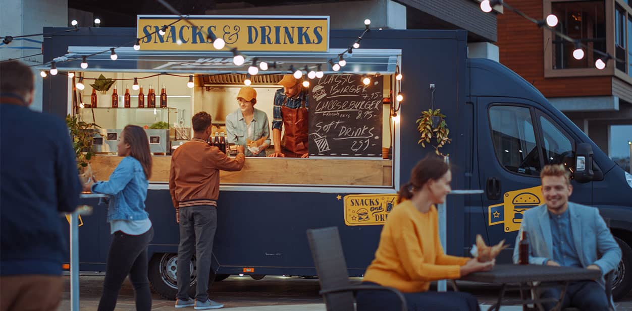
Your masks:
{"label": "raised awning over the serving window, below the large sign", "polygon": [[[68,54],[56,59],[59,71],[101,71],[101,72],[140,72],[140,73],[193,73],[193,74],[246,74],[252,65],[253,58],[258,61],[276,62],[283,68],[271,68],[260,71],[259,74],[287,73],[289,66],[295,69],[310,70],[315,65],[322,64],[325,74],[355,73],[355,74],[388,74],[394,73],[399,49],[354,49],[353,54],[345,54],[346,66],[340,71],[333,71],[328,63],[331,59],[338,61],[338,54],[345,49],[330,49],[329,52],[248,52],[242,66],[233,63],[233,53],[229,51],[144,51],[134,50],[132,47],[116,49],[118,59],[112,61],[110,52],[104,52],[88,57],[88,67],[80,67],[83,56],[107,50],[109,47],[68,47]],[[67,59],[67,60],[66,60]],[[39,66],[40,70],[47,70],[49,66]]]}

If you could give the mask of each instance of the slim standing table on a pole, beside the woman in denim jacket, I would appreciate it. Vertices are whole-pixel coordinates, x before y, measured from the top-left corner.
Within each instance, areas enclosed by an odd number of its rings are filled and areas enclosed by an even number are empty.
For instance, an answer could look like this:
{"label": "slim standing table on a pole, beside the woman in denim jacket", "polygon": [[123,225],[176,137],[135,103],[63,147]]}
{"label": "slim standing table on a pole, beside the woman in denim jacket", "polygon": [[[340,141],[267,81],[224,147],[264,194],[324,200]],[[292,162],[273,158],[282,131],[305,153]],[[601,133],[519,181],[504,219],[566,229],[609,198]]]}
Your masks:
{"label": "slim standing table on a pole, beside the woman in denim jacket", "polygon": [[[81,194],[82,199],[107,197],[106,194]],[[90,209],[77,208],[70,213],[70,311],[79,311],[79,216]]]}

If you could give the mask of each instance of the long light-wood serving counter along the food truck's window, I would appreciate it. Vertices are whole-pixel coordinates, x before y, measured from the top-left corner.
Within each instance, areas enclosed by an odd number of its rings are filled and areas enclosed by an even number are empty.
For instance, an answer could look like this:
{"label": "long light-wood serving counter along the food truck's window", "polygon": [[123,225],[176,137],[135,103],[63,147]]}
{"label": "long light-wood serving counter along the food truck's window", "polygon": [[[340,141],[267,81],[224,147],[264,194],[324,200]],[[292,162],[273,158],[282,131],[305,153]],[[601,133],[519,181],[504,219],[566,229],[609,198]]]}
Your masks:
{"label": "long light-wood serving counter along the food truck's window", "polygon": [[[97,180],[107,180],[119,156],[97,155],[90,163]],[[151,182],[169,182],[171,156],[154,156]],[[246,157],[240,172],[220,173],[222,184],[391,185],[392,160]]]}

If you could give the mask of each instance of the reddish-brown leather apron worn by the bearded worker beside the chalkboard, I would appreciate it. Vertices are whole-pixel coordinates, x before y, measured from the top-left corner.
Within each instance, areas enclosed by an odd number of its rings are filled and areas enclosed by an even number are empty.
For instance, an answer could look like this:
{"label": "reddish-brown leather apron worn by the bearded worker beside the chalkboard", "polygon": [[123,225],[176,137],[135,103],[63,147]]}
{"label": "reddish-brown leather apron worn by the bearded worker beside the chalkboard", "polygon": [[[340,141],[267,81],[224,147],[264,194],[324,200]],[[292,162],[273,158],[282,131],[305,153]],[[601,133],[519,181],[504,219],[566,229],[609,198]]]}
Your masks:
{"label": "reddish-brown leather apron worn by the bearded worker beside the chalkboard", "polygon": [[283,114],[283,127],[285,128],[285,134],[281,139],[283,154],[289,158],[300,158],[301,155],[308,153],[307,132],[309,127],[307,120],[309,114],[305,108],[305,100],[301,103],[301,107],[296,109],[286,105],[281,106],[281,114]]}

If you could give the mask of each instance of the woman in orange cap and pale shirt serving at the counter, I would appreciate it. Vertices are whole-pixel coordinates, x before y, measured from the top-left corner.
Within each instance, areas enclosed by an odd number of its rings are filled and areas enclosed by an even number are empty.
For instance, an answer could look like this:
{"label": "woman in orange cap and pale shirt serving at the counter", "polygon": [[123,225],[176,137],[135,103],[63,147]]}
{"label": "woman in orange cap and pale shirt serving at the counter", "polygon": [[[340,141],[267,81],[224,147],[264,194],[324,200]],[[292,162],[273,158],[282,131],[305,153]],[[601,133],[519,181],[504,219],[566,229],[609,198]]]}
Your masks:
{"label": "woman in orange cap and pale shirt serving at the counter", "polygon": [[239,108],[226,116],[228,143],[245,147],[246,156],[265,156],[270,146],[270,127],[265,112],[255,109],[257,91],[244,86],[237,95]]}

